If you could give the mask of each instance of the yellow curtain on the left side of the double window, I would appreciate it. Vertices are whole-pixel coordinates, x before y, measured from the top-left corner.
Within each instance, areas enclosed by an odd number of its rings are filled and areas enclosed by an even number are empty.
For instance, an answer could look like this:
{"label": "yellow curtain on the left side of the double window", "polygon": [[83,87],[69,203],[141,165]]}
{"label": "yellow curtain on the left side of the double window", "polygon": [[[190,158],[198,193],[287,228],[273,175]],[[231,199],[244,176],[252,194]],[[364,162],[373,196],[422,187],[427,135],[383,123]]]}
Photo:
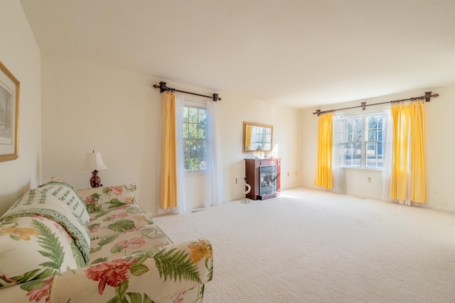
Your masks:
{"label": "yellow curtain on the left side of the double window", "polygon": [[318,162],[314,185],[325,189],[333,189],[333,113],[321,114],[318,123]]}

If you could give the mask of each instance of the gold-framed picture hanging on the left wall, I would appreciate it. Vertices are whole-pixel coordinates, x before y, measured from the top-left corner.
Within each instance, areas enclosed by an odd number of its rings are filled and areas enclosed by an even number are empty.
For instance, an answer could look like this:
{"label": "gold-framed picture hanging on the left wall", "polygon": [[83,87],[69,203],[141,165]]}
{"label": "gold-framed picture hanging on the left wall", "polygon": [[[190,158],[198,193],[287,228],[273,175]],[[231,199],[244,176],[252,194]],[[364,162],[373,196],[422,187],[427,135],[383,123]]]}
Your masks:
{"label": "gold-framed picture hanging on the left wall", "polygon": [[0,62],[0,162],[19,157],[19,96],[21,84]]}

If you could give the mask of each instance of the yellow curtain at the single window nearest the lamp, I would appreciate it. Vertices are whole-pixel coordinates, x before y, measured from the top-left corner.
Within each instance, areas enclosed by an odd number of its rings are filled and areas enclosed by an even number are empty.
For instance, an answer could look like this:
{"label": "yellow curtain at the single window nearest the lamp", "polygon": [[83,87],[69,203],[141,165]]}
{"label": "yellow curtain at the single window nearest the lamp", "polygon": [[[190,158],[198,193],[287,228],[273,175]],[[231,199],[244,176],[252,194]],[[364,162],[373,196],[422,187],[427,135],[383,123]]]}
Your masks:
{"label": "yellow curtain at the single window nearest the lamp", "polygon": [[161,97],[161,187],[160,208],[177,206],[176,96]]}

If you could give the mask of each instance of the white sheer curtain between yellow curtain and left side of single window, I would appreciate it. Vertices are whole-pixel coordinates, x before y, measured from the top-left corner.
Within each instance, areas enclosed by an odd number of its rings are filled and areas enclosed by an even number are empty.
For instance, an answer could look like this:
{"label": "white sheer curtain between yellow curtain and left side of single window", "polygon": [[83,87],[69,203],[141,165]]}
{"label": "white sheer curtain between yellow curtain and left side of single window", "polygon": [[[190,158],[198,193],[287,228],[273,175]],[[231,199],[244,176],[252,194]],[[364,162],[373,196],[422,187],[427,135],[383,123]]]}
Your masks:
{"label": "white sheer curtain between yellow curtain and left side of single window", "polygon": [[[186,211],[186,193],[185,193],[185,166],[183,159],[183,126],[182,126],[182,108],[185,100],[183,96],[176,95],[176,170],[177,170],[177,207],[168,207],[161,209],[158,204],[158,214],[177,213],[181,214]],[[161,123],[160,123],[161,125]],[[161,133],[161,131],[160,131]],[[160,158],[160,155],[158,155]],[[161,175],[158,170],[158,180]],[[159,200],[158,200],[159,201]]]}

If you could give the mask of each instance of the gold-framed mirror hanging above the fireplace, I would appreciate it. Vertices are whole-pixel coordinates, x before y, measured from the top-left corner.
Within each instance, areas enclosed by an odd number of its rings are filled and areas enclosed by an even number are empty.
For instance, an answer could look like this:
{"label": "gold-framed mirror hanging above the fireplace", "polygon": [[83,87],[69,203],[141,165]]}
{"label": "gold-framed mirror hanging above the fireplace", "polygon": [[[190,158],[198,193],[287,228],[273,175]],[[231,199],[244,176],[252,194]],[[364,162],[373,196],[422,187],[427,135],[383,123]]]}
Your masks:
{"label": "gold-framed mirror hanging above the fireplace", "polygon": [[273,126],[243,122],[243,153],[272,153]]}

